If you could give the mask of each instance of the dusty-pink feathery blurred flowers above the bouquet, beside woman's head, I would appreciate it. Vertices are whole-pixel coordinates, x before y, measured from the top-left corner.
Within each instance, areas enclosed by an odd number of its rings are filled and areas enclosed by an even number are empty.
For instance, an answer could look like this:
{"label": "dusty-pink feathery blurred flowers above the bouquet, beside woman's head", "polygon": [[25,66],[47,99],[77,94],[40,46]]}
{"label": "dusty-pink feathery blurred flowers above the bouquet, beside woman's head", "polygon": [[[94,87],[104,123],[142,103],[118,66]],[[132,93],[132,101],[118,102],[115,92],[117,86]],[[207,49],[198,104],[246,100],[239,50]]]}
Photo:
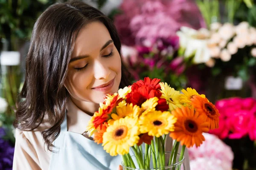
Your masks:
{"label": "dusty-pink feathery blurred flowers above the bouquet, beside woman's head", "polygon": [[114,23],[125,45],[174,36],[180,26],[205,27],[190,0],[123,0],[120,9],[122,14],[115,16]]}

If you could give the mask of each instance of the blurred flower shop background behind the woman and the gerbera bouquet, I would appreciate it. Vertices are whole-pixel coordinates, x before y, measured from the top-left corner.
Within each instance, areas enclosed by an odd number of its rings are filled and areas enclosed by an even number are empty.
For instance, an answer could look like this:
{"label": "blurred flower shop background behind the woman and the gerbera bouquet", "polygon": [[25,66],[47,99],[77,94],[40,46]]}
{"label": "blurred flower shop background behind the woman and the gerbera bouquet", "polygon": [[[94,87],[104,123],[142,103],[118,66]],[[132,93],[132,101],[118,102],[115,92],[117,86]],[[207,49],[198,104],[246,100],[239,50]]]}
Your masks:
{"label": "blurred flower shop background behind the woman and the gerbera bouquet", "polygon": [[[189,149],[192,170],[256,170],[256,0],[83,1],[113,20],[132,82],[159,78],[215,103],[220,127]],[[0,0],[0,170],[12,169],[32,29],[56,2]]]}

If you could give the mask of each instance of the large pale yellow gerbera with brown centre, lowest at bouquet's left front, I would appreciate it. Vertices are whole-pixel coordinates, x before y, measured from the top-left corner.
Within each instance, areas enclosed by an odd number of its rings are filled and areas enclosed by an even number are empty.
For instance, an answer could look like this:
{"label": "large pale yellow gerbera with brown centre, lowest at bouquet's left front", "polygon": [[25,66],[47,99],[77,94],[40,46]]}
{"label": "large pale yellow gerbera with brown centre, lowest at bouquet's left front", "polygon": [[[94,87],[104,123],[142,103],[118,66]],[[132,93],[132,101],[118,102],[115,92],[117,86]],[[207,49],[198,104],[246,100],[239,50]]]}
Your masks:
{"label": "large pale yellow gerbera with brown centre, lowest at bouquet's left front", "polygon": [[138,118],[118,119],[103,134],[103,149],[111,156],[129,153],[129,147],[139,142],[139,134]]}

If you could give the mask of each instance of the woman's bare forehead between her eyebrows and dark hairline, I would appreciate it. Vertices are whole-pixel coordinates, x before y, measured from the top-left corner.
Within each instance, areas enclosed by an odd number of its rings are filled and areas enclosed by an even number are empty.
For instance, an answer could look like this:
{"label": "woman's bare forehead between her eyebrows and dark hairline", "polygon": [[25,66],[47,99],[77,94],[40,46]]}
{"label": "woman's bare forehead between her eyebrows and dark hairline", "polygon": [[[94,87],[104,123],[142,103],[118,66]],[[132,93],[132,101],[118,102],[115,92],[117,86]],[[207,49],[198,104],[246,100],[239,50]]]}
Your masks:
{"label": "woman's bare forehead between her eyebrows and dark hairline", "polygon": [[72,57],[99,52],[108,40],[111,40],[111,36],[103,23],[99,21],[90,23],[79,31]]}

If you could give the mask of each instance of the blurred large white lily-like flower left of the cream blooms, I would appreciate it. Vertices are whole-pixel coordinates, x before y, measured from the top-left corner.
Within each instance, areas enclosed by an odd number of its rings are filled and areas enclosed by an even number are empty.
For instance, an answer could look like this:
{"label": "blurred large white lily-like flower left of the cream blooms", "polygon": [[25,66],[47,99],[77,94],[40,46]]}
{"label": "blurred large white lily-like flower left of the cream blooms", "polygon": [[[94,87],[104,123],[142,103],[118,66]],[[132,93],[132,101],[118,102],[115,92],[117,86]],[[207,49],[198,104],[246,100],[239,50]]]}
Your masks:
{"label": "blurred large white lily-like flower left of the cream blooms", "polygon": [[210,58],[210,51],[207,47],[209,31],[205,28],[197,31],[188,27],[181,27],[180,30],[177,35],[180,38],[180,46],[185,49],[184,57],[192,57],[195,54],[195,63],[207,62]]}

